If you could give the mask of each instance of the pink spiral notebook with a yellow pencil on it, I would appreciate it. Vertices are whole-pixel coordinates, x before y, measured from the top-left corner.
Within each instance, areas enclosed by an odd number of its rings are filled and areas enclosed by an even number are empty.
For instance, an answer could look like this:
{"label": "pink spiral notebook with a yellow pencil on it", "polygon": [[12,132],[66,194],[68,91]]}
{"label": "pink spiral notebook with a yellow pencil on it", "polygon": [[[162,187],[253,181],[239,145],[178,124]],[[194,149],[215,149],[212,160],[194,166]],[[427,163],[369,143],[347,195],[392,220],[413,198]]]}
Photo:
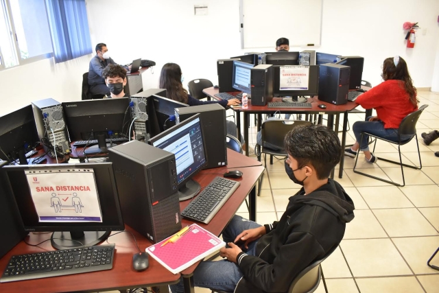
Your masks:
{"label": "pink spiral notebook with a yellow pencil on it", "polygon": [[[167,239],[171,237],[172,235]],[[176,242],[168,242],[162,246],[167,239],[146,248],[146,252],[173,274],[189,268],[193,263],[226,246],[225,242],[197,224],[191,224],[187,233]]]}

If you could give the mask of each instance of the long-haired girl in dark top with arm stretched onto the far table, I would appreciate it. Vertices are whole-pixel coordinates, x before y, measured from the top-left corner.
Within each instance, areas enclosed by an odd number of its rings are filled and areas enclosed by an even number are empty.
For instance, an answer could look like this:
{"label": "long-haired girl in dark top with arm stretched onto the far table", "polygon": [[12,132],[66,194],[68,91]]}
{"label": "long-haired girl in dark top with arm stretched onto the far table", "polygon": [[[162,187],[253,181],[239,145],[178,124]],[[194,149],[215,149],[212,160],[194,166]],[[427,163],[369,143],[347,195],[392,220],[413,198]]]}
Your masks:
{"label": "long-haired girl in dark top with arm stretched onto the far table", "polygon": [[[200,101],[191,97],[183,88],[183,75],[180,66],[175,63],[166,63],[163,65],[160,73],[160,89],[166,89],[166,96],[168,99],[188,104],[189,106],[200,106],[205,104],[220,104],[224,108],[226,106],[236,106],[240,104],[239,99],[229,99],[221,101]],[[227,133],[237,137],[237,126],[233,121],[226,121]],[[241,143],[244,143],[242,138],[239,138]]]}

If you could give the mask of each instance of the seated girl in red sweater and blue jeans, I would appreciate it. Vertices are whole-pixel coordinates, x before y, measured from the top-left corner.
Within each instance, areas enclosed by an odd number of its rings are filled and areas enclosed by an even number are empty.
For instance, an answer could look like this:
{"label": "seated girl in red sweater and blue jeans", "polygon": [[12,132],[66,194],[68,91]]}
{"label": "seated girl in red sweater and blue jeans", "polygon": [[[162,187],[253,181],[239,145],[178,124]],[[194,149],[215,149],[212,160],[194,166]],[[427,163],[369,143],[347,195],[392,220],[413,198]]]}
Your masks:
{"label": "seated girl in red sweater and blue jeans", "polygon": [[[418,110],[416,88],[407,69],[407,63],[399,56],[387,58],[383,62],[384,82],[359,95],[355,102],[366,109],[375,108],[377,116],[367,117],[353,125],[355,144],[346,148],[344,154],[355,158],[357,151],[364,152],[368,163],[377,163],[377,157],[369,150],[368,135],[361,139],[361,132],[369,132],[377,137],[398,141],[398,128],[404,117]],[[410,139],[410,136],[401,137]]]}

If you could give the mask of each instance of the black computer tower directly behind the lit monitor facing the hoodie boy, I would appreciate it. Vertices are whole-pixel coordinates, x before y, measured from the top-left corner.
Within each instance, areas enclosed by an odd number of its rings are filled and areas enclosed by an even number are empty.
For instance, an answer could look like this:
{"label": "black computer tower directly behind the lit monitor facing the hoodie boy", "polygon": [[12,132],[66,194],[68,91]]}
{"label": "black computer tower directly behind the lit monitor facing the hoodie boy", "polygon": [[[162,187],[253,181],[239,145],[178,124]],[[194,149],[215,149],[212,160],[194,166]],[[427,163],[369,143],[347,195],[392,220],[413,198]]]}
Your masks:
{"label": "black computer tower directly behind the lit monitor facing the hoodie boy", "polygon": [[206,143],[207,165],[204,169],[227,165],[226,110],[219,104],[176,108],[176,123],[185,121],[195,114],[200,114]]}

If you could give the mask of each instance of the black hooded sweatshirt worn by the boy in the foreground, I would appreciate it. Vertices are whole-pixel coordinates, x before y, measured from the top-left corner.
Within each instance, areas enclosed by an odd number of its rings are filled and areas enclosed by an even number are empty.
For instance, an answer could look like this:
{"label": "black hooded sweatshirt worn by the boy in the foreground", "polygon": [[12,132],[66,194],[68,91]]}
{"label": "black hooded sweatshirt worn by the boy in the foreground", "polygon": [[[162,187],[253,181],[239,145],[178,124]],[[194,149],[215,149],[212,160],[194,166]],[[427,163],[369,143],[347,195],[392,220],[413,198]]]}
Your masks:
{"label": "black hooded sweatshirt worn by the boy in the foreground", "polygon": [[342,241],[354,204],[332,179],[310,194],[300,189],[289,198],[278,222],[265,225],[267,234],[256,246],[256,256],[239,253],[244,274],[236,293],[286,292],[304,268],[322,259]]}

